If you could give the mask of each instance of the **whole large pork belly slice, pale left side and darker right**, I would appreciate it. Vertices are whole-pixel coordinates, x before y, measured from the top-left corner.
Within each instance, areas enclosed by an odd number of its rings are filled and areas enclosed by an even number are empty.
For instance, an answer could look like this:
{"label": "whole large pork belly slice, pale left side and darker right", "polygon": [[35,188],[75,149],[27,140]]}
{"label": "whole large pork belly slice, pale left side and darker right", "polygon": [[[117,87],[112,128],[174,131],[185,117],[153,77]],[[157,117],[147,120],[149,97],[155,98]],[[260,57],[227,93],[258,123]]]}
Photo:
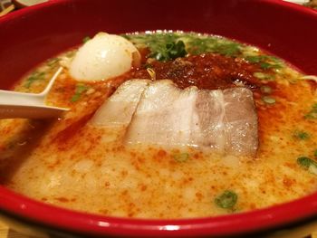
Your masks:
{"label": "whole large pork belly slice, pale left side and darker right", "polygon": [[180,90],[172,81],[153,81],[140,97],[125,139],[128,144],[254,156],[258,138],[252,91]]}

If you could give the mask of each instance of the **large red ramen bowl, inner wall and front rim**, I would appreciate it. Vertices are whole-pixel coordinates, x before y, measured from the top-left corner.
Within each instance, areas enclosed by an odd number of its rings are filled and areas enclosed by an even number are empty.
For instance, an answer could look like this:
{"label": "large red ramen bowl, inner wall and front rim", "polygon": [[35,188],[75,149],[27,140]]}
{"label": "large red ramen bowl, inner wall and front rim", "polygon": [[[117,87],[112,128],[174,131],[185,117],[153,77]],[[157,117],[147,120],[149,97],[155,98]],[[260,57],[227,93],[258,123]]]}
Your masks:
{"label": "large red ramen bowl, inner wall and front rim", "polygon": [[[183,30],[254,44],[317,74],[317,12],[277,0],[51,0],[0,18],[0,88],[38,62],[99,31]],[[45,205],[0,186],[3,218],[47,233],[111,236],[225,236],[259,233],[317,215],[317,194],[243,214],[141,220],[84,214]]]}

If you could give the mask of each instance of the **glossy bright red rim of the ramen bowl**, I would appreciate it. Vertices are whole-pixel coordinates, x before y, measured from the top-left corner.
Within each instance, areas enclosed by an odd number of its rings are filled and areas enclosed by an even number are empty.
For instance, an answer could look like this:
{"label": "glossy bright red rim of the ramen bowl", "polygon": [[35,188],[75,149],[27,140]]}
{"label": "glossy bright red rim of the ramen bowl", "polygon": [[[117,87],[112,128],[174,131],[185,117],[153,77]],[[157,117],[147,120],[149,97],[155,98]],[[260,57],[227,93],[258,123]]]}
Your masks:
{"label": "glossy bright red rim of the ramen bowl", "polygon": [[[68,2],[49,0],[0,17],[0,24],[16,17]],[[260,1],[259,1],[260,2]],[[281,0],[261,0],[271,5],[280,5],[317,17],[317,11]],[[24,195],[18,195],[5,186],[0,186],[0,211],[18,219],[57,228],[71,233],[111,234],[129,236],[203,236],[251,233],[298,222],[317,215],[317,193],[282,205],[213,217],[190,219],[138,219],[119,218],[100,214],[87,214],[44,204]],[[234,232],[233,232],[234,231]]]}

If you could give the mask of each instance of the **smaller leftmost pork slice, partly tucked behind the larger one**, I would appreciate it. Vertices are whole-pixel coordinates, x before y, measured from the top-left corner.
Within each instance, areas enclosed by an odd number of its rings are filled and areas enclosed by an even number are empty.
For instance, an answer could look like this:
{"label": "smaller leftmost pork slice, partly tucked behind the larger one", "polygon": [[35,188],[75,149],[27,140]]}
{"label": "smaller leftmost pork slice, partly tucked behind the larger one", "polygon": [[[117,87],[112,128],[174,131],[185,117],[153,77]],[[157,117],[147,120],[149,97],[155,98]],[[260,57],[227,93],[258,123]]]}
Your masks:
{"label": "smaller leftmost pork slice, partly tucked behind the larger one", "polygon": [[91,119],[98,127],[127,127],[149,80],[125,81],[105,100]]}

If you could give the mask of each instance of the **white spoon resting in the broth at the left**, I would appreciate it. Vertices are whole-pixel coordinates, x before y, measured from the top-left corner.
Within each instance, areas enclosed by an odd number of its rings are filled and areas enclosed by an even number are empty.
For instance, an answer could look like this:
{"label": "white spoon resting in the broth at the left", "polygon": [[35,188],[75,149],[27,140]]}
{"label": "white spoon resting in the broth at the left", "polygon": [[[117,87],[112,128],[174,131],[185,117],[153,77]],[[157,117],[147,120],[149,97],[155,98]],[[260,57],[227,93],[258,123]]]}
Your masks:
{"label": "white spoon resting in the broth at the left", "polygon": [[0,90],[0,119],[53,118],[59,116],[63,111],[69,110],[45,105],[45,98],[61,71],[62,67],[54,73],[53,78],[41,93]]}

